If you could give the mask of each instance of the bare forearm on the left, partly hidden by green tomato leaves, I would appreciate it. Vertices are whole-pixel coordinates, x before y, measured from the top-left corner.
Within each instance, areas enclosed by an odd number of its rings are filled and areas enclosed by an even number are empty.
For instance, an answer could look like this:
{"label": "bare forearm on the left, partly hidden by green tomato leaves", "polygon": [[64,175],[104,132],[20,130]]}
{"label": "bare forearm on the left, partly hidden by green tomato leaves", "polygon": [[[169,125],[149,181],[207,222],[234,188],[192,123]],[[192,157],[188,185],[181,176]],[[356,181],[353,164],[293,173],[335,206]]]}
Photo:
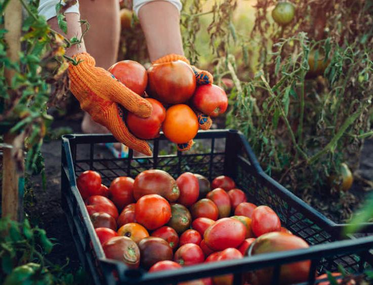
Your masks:
{"label": "bare forearm on the left, partly hidden by green tomato leaves", "polygon": [[[73,36],[76,36],[77,38],[80,38],[81,36],[81,27],[80,27],[80,17],[76,13],[66,13],[66,22],[67,22],[67,34],[64,33],[57,23],[57,18],[53,17],[52,19],[48,20],[48,24],[51,26],[52,29],[55,31],[61,33],[66,38],[70,39]],[[66,50],[67,56],[72,56],[76,53],[83,53],[86,52],[86,46],[84,45],[84,42],[79,45],[73,45],[72,47],[68,48]]]}

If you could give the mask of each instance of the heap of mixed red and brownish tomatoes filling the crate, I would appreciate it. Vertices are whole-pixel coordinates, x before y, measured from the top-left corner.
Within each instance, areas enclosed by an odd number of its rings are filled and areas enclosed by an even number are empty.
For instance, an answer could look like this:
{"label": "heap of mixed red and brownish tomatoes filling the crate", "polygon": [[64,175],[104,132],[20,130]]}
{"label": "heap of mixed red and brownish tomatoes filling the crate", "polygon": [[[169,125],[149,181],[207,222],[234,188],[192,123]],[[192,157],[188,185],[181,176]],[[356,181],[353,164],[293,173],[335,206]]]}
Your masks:
{"label": "heap of mixed red and brownish tomatoes filling the crate", "polygon": [[[175,180],[162,170],[146,170],[135,179],[117,177],[107,188],[97,172],[85,171],[78,177],[77,187],[106,257],[130,268],[177,270],[309,247],[281,227],[270,207],[247,201],[227,176],[210,183],[190,172]],[[285,264],[280,283],[304,282],[309,270],[309,260]],[[250,271],[244,279],[250,284],[270,284],[272,271]],[[233,274],[195,282],[231,284]]]}

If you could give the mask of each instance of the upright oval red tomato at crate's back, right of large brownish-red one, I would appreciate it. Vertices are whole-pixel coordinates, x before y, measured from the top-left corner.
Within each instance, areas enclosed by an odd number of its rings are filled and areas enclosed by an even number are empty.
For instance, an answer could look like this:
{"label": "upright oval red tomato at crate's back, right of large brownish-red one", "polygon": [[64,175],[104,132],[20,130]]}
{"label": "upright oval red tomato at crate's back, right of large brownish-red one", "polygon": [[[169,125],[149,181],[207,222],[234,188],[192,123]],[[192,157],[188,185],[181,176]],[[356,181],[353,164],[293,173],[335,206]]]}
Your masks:
{"label": "upright oval red tomato at crate's back, right of large brownish-red one", "polygon": [[176,179],[176,183],[180,189],[178,203],[189,207],[195,203],[199,196],[198,179],[190,172],[185,172]]}

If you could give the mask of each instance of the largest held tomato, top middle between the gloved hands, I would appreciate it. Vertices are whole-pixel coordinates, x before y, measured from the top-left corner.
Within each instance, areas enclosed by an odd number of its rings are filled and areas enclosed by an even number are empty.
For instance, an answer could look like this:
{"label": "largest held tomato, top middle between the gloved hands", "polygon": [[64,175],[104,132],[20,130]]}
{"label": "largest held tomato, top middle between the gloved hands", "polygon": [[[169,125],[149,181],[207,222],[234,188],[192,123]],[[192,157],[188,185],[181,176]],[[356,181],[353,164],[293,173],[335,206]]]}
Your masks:
{"label": "largest held tomato, top middle between the gloved hands", "polygon": [[184,103],[195,91],[194,72],[184,61],[153,64],[148,76],[148,94],[162,103]]}

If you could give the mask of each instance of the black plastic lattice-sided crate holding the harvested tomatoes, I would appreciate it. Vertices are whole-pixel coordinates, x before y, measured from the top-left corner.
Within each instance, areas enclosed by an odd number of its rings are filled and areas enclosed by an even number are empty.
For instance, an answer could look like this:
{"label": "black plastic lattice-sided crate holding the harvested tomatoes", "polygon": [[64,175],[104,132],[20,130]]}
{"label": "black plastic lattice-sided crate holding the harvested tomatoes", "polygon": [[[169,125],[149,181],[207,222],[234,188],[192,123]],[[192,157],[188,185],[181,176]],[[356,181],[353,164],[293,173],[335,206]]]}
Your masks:
{"label": "black plastic lattice-sided crate holding the harvested tomatoes", "polygon": [[[373,237],[352,236],[352,239],[341,240],[344,225],[330,221],[265,174],[241,133],[234,130],[203,131],[198,132],[195,141],[197,147],[191,151],[172,151],[172,143],[161,135],[150,141],[153,145],[151,157],[134,158],[130,150],[128,158],[112,158],[103,157],[99,149],[99,144],[116,142],[111,135],[63,136],[63,208],[79,258],[94,283],[166,284],[234,273],[234,283],[240,284],[243,272],[274,266],[273,284],[276,284],[281,264],[311,259],[308,284],[313,284],[316,271],[337,271],[338,265],[342,265],[347,271],[356,273],[373,264],[368,252],[373,248]],[[103,183],[109,185],[118,176],[136,177],[146,169],[161,169],[175,178],[186,171],[202,174],[210,180],[228,175],[238,188],[245,191],[248,201],[271,207],[284,227],[307,240],[312,247],[151,274],[142,269],[130,270],[121,262],[105,259],[75,179],[81,172],[95,170],[101,174]],[[372,228],[370,225],[365,231],[371,232]]]}

